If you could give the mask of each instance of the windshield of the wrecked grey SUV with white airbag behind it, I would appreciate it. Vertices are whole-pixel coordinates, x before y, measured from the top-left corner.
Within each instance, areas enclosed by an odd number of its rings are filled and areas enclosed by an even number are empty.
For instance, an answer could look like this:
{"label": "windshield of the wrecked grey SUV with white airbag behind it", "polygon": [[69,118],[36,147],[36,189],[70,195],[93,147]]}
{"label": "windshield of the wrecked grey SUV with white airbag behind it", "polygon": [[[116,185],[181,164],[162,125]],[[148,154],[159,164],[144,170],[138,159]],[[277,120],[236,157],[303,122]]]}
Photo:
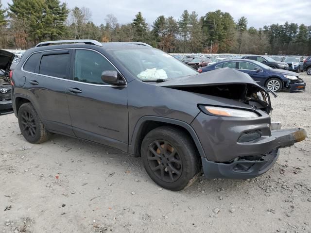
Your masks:
{"label": "windshield of the wrecked grey SUV with white airbag behind it", "polygon": [[112,50],[119,62],[142,81],[169,80],[198,74],[171,55],[156,49]]}

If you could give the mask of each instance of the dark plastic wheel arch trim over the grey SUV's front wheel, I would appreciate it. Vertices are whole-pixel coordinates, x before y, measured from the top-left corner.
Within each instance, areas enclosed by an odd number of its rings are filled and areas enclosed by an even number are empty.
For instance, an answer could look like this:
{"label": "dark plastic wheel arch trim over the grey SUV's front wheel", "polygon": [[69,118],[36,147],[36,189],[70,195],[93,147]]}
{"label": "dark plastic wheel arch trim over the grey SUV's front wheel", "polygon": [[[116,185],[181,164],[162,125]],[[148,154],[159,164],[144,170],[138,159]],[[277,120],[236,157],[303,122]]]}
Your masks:
{"label": "dark plastic wheel arch trim over the grey SUV's front wheel", "polygon": [[130,143],[128,146],[128,153],[134,154],[135,156],[139,156],[141,143],[145,135],[151,130],[165,125],[174,126],[187,133],[192,139],[200,156],[206,157],[201,142],[197,134],[193,130],[193,128],[190,126],[190,124],[184,121],[160,116],[143,116],[138,120],[135,129],[133,131],[132,137],[129,138]]}

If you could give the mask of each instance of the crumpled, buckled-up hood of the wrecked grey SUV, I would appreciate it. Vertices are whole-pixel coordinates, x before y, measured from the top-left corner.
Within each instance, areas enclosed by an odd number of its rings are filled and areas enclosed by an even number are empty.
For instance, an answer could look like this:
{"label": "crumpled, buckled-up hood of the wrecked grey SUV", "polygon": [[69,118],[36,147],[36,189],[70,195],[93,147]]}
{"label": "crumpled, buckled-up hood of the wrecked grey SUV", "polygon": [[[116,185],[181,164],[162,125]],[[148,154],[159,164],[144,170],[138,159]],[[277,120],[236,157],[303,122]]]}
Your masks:
{"label": "crumpled, buckled-up hood of the wrecked grey SUV", "polygon": [[215,69],[202,74],[168,80],[166,82],[157,83],[156,85],[165,87],[185,87],[209,85],[215,86],[235,83],[248,83],[262,88],[248,74],[230,68]]}

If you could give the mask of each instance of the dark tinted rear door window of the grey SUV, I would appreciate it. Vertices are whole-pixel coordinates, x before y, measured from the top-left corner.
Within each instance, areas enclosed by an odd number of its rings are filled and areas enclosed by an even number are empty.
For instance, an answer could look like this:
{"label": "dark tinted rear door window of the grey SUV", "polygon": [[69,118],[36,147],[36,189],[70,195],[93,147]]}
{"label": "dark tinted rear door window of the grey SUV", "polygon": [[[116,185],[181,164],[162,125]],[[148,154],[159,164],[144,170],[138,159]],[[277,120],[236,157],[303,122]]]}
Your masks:
{"label": "dark tinted rear door window of the grey SUV", "polygon": [[66,79],[67,67],[70,63],[70,54],[43,55],[39,74]]}

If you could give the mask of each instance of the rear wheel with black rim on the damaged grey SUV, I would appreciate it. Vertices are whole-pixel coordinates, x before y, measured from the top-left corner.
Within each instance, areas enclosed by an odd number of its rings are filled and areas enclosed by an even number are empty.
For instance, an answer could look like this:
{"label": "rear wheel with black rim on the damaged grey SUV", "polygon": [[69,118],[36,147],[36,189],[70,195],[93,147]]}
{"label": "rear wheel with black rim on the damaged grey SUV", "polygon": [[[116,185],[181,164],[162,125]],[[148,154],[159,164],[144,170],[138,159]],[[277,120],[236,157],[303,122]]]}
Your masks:
{"label": "rear wheel with black rim on the damaged grey SUV", "polygon": [[45,129],[31,103],[24,103],[20,106],[18,125],[24,138],[30,143],[39,144],[49,139],[50,133]]}

